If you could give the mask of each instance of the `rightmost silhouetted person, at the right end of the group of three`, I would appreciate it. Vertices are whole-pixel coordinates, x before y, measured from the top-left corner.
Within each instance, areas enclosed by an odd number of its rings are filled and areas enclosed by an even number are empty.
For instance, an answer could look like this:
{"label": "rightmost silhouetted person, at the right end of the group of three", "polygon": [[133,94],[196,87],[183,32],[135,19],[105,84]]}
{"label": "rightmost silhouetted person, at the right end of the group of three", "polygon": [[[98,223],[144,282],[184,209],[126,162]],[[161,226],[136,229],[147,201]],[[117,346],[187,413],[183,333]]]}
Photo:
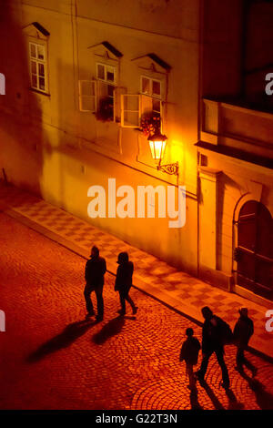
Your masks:
{"label": "rightmost silhouetted person, at the right end of the group of three", "polygon": [[241,308],[239,310],[239,314],[240,316],[233,331],[234,342],[237,346],[236,369],[241,371],[243,369],[243,364],[245,364],[248,369],[251,370],[253,376],[255,376],[257,374],[256,367],[254,367],[251,362],[248,362],[245,357],[245,351],[248,348],[248,341],[254,333],[253,321],[248,317],[248,308]]}

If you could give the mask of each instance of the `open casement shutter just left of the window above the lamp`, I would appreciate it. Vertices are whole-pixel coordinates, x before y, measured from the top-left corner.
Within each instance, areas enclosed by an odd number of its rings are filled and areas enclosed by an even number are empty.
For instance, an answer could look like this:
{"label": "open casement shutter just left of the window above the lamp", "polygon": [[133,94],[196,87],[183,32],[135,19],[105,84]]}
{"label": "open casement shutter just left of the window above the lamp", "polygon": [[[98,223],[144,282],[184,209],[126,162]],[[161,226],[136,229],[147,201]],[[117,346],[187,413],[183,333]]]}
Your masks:
{"label": "open casement shutter just left of the window above the lamp", "polygon": [[121,94],[121,126],[139,127],[140,97],[138,94]]}

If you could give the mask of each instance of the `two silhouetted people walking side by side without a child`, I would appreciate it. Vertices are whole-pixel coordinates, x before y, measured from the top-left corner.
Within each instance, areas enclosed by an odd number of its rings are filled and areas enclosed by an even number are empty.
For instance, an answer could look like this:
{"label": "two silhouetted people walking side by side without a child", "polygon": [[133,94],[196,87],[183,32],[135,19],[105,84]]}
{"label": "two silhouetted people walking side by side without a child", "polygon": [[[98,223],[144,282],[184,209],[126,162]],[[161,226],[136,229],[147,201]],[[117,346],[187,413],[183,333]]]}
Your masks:
{"label": "two silhouetted people walking side by side without a child", "polygon": [[[132,277],[134,264],[129,260],[126,252],[121,252],[117,258],[118,268],[116,270],[115,290],[119,292],[121,309],[118,311],[121,315],[126,314],[126,301],[131,305],[133,313],[136,314],[137,307],[129,296],[129,290],[132,287]],[[104,299],[103,288],[105,283],[106,260],[99,256],[99,250],[94,246],[91,250],[90,259],[86,261],[86,287],[84,291],[86,300],[87,317],[95,315],[94,306],[91,300],[91,293],[95,291],[97,302],[96,321],[104,319]]]}

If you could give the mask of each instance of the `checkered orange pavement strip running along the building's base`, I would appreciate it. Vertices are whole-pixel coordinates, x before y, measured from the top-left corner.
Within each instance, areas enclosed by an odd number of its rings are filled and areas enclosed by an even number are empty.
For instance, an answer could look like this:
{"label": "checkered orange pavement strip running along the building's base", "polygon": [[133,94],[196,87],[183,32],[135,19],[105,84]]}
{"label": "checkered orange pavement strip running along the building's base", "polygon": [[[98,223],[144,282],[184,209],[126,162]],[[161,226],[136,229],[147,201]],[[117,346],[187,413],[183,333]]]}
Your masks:
{"label": "checkered orange pavement strip running along the building's base", "polygon": [[273,358],[273,332],[265,330],[265,314],[273,309],[273,303],[271,308],[266,308],[236,294],[212,287],[176,270],[147,252],[96,229],[65,210],[13,186],[0,185],[0,209],[1,207],[15,219],[84,257],[88,257],[90,247],[96,244],[107,260],[108,270],[114,274],[116,255],[120,250],[128,251],[136,267],[136,288],[146,291],[193,320],[202,321],[200,310],[207,305],[233,327],[238,319],[238,308],[247,306],[255,324],[255,335],[249,344],[255,350]]}

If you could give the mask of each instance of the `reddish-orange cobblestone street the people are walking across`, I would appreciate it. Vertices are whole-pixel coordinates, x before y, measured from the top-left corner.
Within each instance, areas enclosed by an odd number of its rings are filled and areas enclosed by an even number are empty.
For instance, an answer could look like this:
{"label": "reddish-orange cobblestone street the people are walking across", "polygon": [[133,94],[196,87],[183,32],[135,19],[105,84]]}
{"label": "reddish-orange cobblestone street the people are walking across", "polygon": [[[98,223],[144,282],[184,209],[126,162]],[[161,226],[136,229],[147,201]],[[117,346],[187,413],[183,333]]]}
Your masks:
{"label": "reddish-orange cobblestone street the people are walking across", "polygon": [[1,409],[273,409],[269,362],[248,353],[258,368],[253,382],[234,370],[235,348],[227,346],[230,391],[219,386],[213,356],[207,384],[190,396],[178,358],[185,329],[200,339],[200,327],[136,289],[136,316],[128,309],[119,317],[109,273],[105,319],[86,321],[84,258],[4,213],[0,242]]}

